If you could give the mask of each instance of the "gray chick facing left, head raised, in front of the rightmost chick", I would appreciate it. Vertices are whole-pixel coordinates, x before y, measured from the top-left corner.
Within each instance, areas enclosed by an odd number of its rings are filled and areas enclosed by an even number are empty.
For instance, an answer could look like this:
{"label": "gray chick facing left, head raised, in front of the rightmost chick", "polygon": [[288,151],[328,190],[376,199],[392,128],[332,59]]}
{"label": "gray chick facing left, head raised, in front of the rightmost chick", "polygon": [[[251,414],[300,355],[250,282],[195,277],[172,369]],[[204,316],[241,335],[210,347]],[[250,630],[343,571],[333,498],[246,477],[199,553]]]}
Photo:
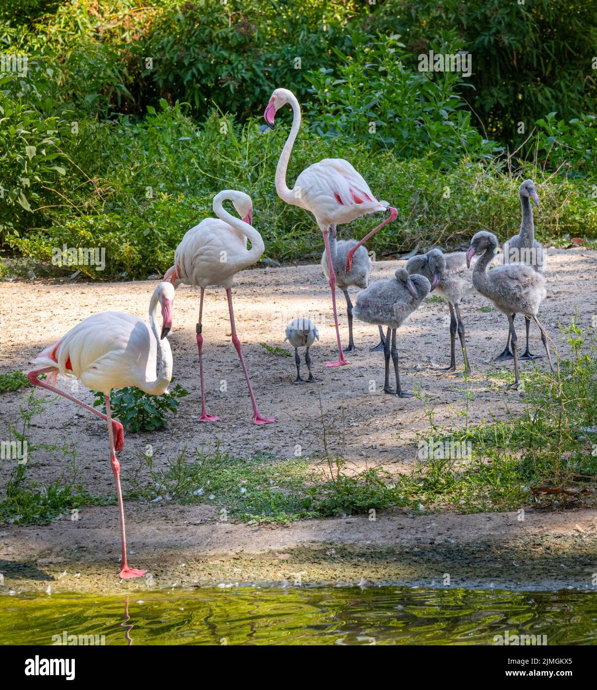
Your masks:
{"label": "gray chick facing left, head raised, in front of the rightmost chick", "polygon": [[514,357],[514,384],[509,384],[506,388],[518,388],[520,379],[518,376],[516,331],[514,331],[514,316],[516,314],[528,316],[539,326],[541,341],[545,346],[549,366],[554,371],[545,329],[537,318],[539,306],[545,299],[547,290],[543,275],[527,264],[505,264],[488,271],[487,266],[493,259],[497,248],[498,238],[493,233],[482,230],[471,240],[471,246],[467,251],[467,266],[470,266],[474,254],[480,255],[473,270],[473,285],[481,295],[491,299],[496,309],[508,317],[509,337],[512,342],[512,357]]}

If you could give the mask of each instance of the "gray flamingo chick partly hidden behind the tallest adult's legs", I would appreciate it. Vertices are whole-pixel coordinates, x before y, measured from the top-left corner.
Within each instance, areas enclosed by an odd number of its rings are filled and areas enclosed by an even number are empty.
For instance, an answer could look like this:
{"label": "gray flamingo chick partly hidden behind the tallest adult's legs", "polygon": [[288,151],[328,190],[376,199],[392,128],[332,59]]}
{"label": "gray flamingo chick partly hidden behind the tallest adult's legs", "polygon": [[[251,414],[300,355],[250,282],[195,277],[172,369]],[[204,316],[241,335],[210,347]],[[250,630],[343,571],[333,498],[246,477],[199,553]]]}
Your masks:
{"label": "gray flamingo chick partly hidden behind the tallest adult's legs", "polygon": [[[367,248],[360,246],[354,253],[352,268],[349,273],[346,273],[346,258],[348,252],[354,247],[356,239],[340,239],[336,240],[336,226],[332,225],[332,233],[330,235],[330,255],[332,256],[332,266],[334,266],[334,273],[336,273],[336,287],[340,288],[346,299],[346,313],[348,316],[348,347],[343,350],[344,353],[350,354],[354,352],[354,339],[352,337],[352,302],[348,294],[350,286],[357,288],[366,288],[369,284],[369,273],[371,271],[371,259]],[[321,270],[325,279],[330,279],[330,268],[327,264],[327,253],[325,249],[321,255]],[[379,335],[381,336],[380,345],[373,349],[383,349],[383,331],[379,327]]]}

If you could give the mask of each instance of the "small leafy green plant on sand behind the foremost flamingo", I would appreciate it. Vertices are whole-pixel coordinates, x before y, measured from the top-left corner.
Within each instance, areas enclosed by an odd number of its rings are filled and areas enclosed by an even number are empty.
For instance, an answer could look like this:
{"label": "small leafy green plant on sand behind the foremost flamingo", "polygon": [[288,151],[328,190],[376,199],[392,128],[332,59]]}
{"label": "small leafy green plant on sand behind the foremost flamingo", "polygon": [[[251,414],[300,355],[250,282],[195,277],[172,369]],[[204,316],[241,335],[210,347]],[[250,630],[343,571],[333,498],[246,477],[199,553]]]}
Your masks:
{"label": "small leafy green plant on sand behind the foremost flamingo", "polygon": [[[135,386],[127,386],[110,394],[110,408],[126,431],[155,431],[168,426],[168,419],[178,412],[179,398],[188,395],[182,386],[175,384],[163,395],[148,395]],[[94,392],[94,407],[101,406],[105,413],[103,393]]]}

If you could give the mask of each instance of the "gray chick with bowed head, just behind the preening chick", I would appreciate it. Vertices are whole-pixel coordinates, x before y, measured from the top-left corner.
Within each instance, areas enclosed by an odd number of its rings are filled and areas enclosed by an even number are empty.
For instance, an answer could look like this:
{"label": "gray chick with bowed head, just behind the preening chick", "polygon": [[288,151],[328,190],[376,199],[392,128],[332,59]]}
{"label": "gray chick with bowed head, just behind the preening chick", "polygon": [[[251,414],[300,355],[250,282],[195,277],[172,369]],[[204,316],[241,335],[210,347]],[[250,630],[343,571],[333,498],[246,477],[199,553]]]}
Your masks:
{"label": "gray chick with bowed head, just behind the preening chick", "polygon": [[406,264],[410,275],[424,275],[431,283],[431,289],[445,299],[450,310],[450,364],[441,371],[456,371],[456,332],[461,341],[467,376],[471,373],[465,342],[465,325],[461,317],[460,303],[463,297],[474,293],[473,275],[467,268],[465,252],[444,254],[441,249],[432,249],[427,254],[411,257]]}

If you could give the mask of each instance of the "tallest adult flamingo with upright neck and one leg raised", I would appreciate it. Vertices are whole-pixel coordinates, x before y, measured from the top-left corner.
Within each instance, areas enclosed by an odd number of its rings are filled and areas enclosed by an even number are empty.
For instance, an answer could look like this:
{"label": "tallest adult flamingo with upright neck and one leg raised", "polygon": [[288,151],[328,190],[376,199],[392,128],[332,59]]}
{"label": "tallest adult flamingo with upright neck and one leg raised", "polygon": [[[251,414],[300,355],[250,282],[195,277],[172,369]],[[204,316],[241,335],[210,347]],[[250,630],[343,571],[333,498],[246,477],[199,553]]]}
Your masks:
{"label": "tallest adult flamingo with upright neck and one leg raised", "polygon": [[276,192],[278,196],[287,204],[300,206],[310,211],[314,216],[325,244],[327,254],[327,265],[330,270],[330,288],[332,290],[332,306],[334,308],[334,324],[336,326],[336,339],[338,341],[338,361],[327,362],[325,366],[341,366],[348,364],[342,351],[340,340],[340,328],[338,327],[338,312],[336,311],[336,275],[330,254],[330,228],[335,231],[336,225],[350,223],[356,218],[375,213],[376,211],[389,210],[389,218],[374,228],[368,235],[365,235],[360,242],[356,242],[354,247],[347,253],[346,273],[352,269],[352,257],[356,250],[367,242],[367,239],[375,235],[383,226],[398,217],[395,208],[384,205],[374,197],[367,182],[356,172],[352,165],[342,158],[325,158],[323,161],[314,163],[305,168],[296,178],[294,187],[289,189],[286,184],[286,171],[290,152],[294,146],[294,140],[301,127],[301,106],[296,97],[285,88],[276,88],[272,93],[270,102],[265,108],[265,122],[274,129],[274,117],[276,112],[290,103],[292,107],[292,128],[286,139],[284,148],[276,168]]}

